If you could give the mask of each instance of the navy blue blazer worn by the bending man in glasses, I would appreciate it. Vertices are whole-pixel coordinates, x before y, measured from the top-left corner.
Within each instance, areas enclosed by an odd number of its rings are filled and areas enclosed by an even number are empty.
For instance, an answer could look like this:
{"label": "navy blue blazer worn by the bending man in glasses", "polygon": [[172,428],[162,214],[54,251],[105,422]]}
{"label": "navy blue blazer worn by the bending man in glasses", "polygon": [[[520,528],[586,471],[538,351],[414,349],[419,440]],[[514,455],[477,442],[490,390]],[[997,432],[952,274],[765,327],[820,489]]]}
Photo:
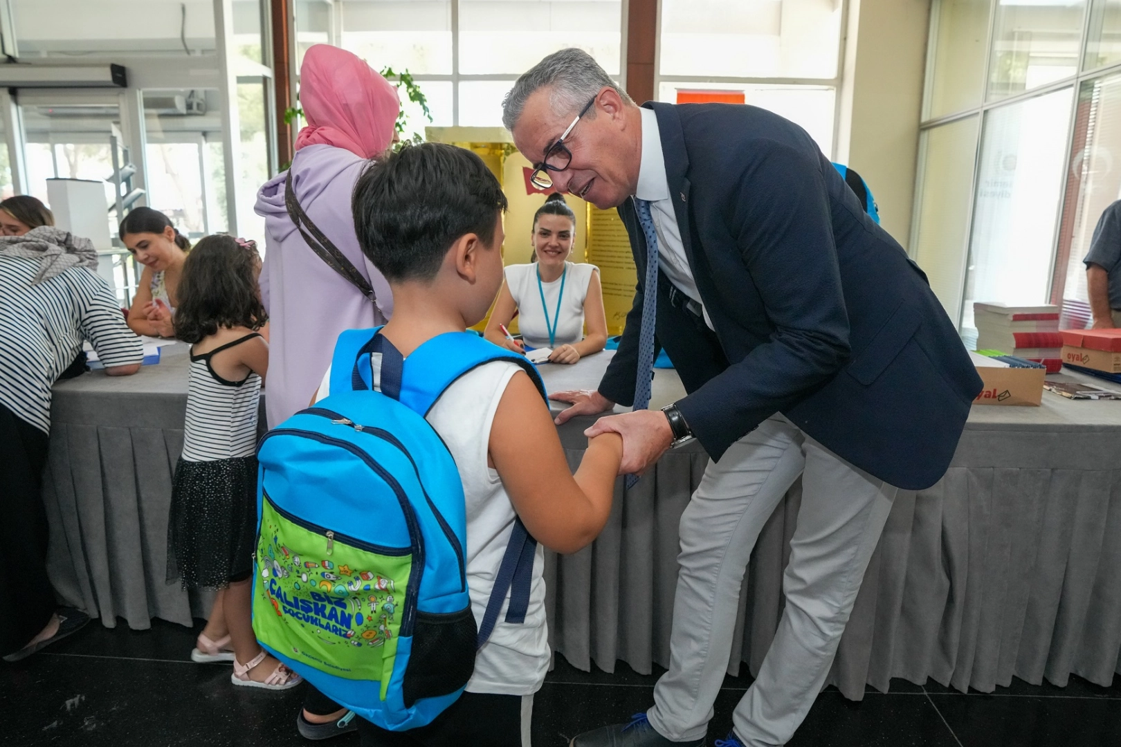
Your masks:
{"label": "navy blue blazer worn by the bending man in glasses", "polygon": [[[906,489],[934,485],[980,376],[904,249],[860,207],[805,130],[742,104],[647,103],[712,333],[659,273],[657,340],[677,407],[713,459],[781,412],[826,448]],[[634,401],[646,240],[619,207],[639,286],[600,392]]]}

